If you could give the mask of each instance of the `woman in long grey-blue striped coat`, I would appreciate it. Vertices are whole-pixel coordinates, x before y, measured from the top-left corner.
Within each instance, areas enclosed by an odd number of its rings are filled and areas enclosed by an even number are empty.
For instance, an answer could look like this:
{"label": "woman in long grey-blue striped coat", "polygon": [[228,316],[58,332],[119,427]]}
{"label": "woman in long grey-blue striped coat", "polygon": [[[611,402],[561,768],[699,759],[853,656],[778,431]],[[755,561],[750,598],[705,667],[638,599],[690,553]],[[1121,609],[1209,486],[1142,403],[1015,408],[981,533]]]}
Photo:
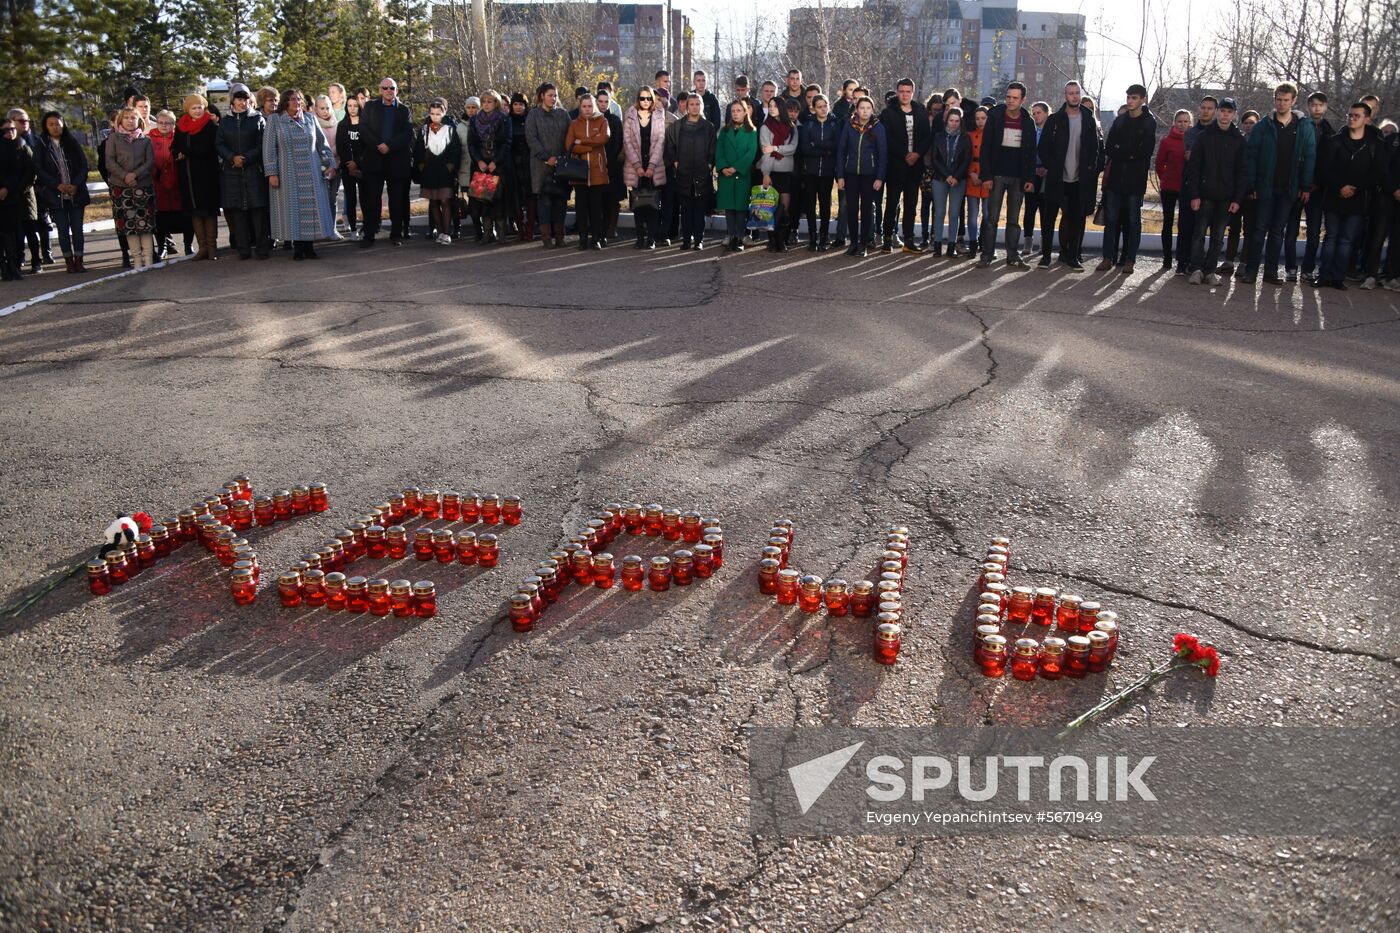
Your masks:
{"label": "woman in long grey-blue striped coat", "polygon": [[315,240],[336,238],[326,179],[336,163],[316,118],[295,88],[281,92],[263,133],[263,171],[272,198],[272,237],[293,244],[293,259],[319,259]]}

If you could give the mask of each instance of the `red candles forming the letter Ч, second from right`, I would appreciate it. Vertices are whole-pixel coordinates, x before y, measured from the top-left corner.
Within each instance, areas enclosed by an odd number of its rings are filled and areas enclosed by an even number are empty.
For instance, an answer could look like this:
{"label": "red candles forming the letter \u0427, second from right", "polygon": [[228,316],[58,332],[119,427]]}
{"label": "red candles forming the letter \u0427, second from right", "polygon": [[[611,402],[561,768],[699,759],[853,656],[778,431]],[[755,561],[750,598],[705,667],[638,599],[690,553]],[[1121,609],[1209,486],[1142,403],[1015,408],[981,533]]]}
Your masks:
{"label": "red candles forming the letter \u0427, second from right", "polygon": [[847,583],[840,577],[823,580],[815,573],[802,574],[788,567],[792,553],[791,520],[778,518],[769,530],[769,544],[759,559],[759,593],[776,595],[778,605],[797,605],[804,612],[826,607],[827,615],[860,618],[875,615],[872,653],[879,664],[899,660],[903,633],[904,569],[909,566],[909,528],[890,525],[881,552],[879,580]]}

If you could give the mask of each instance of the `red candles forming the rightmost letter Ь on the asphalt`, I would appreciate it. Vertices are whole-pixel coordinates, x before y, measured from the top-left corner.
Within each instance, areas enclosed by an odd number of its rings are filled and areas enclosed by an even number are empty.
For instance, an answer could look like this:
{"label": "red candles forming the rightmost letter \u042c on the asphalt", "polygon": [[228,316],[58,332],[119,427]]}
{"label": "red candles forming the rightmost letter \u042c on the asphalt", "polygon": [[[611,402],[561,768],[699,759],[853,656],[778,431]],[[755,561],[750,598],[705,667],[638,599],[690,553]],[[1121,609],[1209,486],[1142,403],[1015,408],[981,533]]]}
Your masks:
{"label": "red candles forming the rightmost letter \u042c on the asphalt", "polygon": [[[1054,587],[1011,587],[1009,563],[1011,539],[993,538],[981,565],[981,594],[974,612],[973,660],[981,672],[1005,677],[1009,668],[1018,681],[1036,677],[1057,681],[1109,670],[1119,649],[1117,614]],[[1008,651],[1001,635],[1004,622],[1046,628],[1054,623],[1067,637],[1047,636],[1043,642],[1019,637]]]}

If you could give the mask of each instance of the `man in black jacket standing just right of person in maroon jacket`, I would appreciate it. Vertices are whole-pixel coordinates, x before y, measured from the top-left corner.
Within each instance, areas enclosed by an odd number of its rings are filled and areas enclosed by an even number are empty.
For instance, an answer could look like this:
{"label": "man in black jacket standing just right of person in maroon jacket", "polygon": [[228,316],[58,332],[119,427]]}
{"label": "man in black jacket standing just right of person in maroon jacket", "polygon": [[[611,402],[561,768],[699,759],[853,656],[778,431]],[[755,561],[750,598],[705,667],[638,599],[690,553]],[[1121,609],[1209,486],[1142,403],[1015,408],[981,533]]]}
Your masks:
{"label": "man in black jacket standing just right of person in maroon jacket", "polygon": [[[1235,101],[1225,98],[1215,111],[1215,122],[1191,143],[1191,157],[1186,160],[1186,178],[1182,195],[1191,205],[1196,224],[1191,227],[1191,284],[1218,286],[1221,244],[1225,241],[1225,226],[1229,217],[1239,213],[1245,203],[1245,188],[1249,181],[1245,161],[1245,133],[1235,126]],[[1205,249],[1205,233],[1210,230],[1211,248]]]}

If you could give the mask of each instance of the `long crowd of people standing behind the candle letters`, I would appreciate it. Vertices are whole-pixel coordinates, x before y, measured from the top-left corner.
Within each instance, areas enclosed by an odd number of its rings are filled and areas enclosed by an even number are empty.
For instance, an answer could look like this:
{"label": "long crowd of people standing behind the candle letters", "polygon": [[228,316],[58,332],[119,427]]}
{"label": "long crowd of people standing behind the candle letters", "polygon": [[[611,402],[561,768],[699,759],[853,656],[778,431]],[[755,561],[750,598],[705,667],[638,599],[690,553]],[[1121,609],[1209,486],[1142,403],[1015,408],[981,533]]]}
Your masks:
{"label": "long crowd of people standing behind the candle letters", "polygon": [[[704,71],[673,91],[665,70],[630,104],[605,81],[574,88],[566,109],[546,83],[531,97],[482,91],[459,113],[434,98],[423,118],[393,78],[377,94],[332,84],[314,99],[234,84],[221,115],[199,94],[181,115],[154,118],[136,88],[126,97],[97,170],[123,265],[136,268],[181,249],[216,259],[220,213],[242,259],[279,245],[318,259],[316,241],[342,235],[337,219],[361,248],[385,227],[399,245],[412,235],[416,182],[428,237],[442,245],[470,227],[482,244],[538,238],[556,249],[577,233],[578,249],[602,249],[616,242],[626,202],[637,249],[703,249],[721,213],[731,252],[756,240],[773,252],[799,247],[805,220],[812,252],[902,251],[990,268],[1004,217],[1007,268],[1029,268],[1039,226],[1037,265],[1079,272],[1093,217],[1103,227],[1096,270],[1131,273],[1155,174],[1163,270],[1208,284],[1231,273],[1253,284],[1263,273],[1268,284],[1344,289],[1350,277],[1400,290],[1400,136],[1379,120],[1375,97],[1352,102],[1334,129],[1326,95],[1309,95],[1303,112],[1287,83],[1267,116],[1207,95],[1196,113],[1177,111],[1165,136],[1138,84],[1105,132],[1077,81],[1057,106],[1028,101],[1019,81],[1001,101],[956,88],[920,101],[904,78],[876,101],[855,80],[829,98],[795,69],[781,87],[750,88],[739,76],[725,106]],[[69,270],[81,272],[83,147],[56,112],[31,127],[10,111],[0,129],[0,270],[20,277],[25,245],[28,272],[50,262],[52,223]],[[759,205],[766,213],[750,214]]]}

